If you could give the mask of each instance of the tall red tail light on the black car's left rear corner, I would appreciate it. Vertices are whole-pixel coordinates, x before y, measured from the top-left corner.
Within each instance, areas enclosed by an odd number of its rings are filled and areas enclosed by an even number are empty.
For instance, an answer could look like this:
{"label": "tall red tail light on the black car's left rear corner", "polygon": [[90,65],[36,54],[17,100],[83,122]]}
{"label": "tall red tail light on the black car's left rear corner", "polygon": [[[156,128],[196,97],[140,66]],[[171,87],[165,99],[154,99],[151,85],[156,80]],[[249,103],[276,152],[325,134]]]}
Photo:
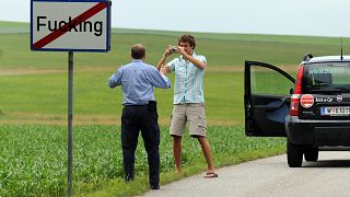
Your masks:
{"label": "tall red tail light on the black car's left rear corner", "polygon": [[291,116],[298,116],[300,94],[302,93],[302,85],[303,85],[303,82],[302,82],[303,73],[304,73],[304,65],[301,65],[298,70],[294,93],[291,96],[291,108],[289,112]]}

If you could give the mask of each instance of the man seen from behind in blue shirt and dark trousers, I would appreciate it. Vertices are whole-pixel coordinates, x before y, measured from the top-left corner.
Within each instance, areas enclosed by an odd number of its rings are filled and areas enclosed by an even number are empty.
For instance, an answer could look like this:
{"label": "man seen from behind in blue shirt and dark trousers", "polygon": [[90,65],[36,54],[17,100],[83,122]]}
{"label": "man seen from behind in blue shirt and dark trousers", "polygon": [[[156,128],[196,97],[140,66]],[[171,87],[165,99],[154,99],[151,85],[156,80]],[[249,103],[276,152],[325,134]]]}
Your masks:
{"label": "man seen from behind in blue shirt and dark trousers", "polygon": [[149,181],[152,189],[160,188],[160,128],[153,86],[168,89],[171,82],[156,70],[144,63],[145,48],[141,44],[131,47],[132,61],[119,68],[109,79],[110,89],[121,85],[121,147],[126,181],[135,177],[135,151],[141,135],[148,153]]}

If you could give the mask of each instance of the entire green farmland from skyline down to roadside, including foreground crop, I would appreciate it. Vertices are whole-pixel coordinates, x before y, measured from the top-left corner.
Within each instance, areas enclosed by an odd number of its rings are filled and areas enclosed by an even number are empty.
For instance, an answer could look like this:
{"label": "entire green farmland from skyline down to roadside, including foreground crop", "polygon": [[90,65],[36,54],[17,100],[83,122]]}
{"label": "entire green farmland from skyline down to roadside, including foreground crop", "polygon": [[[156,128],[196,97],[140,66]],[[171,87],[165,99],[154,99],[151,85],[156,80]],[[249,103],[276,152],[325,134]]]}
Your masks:
{"label": "entire green farmland from skyline down to roadside, including foreground crop", "polygon": [[[80,196],[130,196],[148,190],[145,153],[140,141],[137,179],[121,181],[120,88],[106,81],[130,61],[130,46],[147,46],[155,65],[182,32],[113,30],[112,51],[74,53],[74,193]],[[209,141],[217,166],[284,151],[284,139],[244,137],[244,61],[257,60],[292,76],[305,53],[338,55],[332,37],[191,33],[197,54],[206,55],[205,99]],[[343,38],[343,44],[350,38]],[[0,22],[0,196],[62,196],[67,173],[68,53],[30,50],[30,26]],[[347,53],[347,47],[345,51]],[[168,76],[174,81],[174,76]],[[260,81],[270,78],[261,76]],[[257,82],[258,90],[265,90]],[[282,86],[280,86],[282,88]],[[273,92],[273,90],[272,90]],[[155,90],[162,126],[162,184],[203,172],[199,144],[184,142],[184,175],[175,176],[167,135],[173,89]]]}

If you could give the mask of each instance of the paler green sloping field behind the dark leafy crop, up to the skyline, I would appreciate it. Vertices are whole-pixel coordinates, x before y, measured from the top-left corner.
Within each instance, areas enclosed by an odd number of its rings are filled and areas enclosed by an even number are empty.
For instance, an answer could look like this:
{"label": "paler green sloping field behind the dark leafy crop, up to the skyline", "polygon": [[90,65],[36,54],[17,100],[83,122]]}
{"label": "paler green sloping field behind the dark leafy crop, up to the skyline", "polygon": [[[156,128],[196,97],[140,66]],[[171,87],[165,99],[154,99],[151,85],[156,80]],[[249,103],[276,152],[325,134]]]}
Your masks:
{"label": "paler green sloping field behind the dark leafy crop, up to the skyline", "polygon": [[[67,114],[68,53],[30,50],[28,24],[1,22],[0,121],[65,124]],[[77,124],[115,124],[121,112],[120,89],[108,90],[106,80],[130,61],[135,43],[148,47],[147,62],[155,65],[178,32],[114,30],[112,51],[74,54],[74,115]],[[245,60],[259,60],[296,70],[302,56],[339,54],[339,38],[310,36],[194,33],[197,53],[208,59],[205,93],[211,125],[243,124]],[[350,39],[345,38],[343,43]],[[170,76],[173,79],[173,76]],[[156,90],[160,121],[168,123],[173,90]],[[11,101],[11,102],[10,102]]]}

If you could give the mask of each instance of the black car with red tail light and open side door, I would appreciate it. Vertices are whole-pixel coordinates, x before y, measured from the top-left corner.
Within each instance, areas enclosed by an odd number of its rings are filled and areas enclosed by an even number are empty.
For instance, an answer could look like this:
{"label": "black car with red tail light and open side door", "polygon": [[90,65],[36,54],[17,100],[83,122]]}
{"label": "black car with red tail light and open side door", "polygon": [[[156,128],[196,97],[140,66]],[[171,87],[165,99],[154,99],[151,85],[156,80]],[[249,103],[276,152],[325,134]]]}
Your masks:
{"label": "black car with red tail light and open side door", "polygon": [[291,167],[301,166],[303,155],[317,161],[319,148],[350,147],[350,56],[302,61],[296,80],[246,61],[244,104],[246,136],[287,137]]}

